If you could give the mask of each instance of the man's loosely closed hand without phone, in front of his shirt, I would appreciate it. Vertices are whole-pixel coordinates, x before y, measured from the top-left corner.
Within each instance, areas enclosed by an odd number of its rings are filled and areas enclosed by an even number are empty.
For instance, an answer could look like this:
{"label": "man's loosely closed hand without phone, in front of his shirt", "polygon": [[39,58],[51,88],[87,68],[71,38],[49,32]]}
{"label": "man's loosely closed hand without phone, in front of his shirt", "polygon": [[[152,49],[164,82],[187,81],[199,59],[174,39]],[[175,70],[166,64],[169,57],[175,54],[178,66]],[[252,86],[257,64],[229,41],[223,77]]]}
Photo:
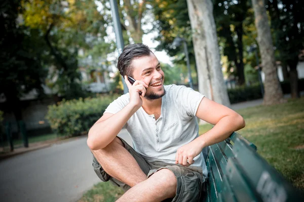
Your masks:
{"label": "man's loosely closed hand without phone, in front of his shirt", "polygon": [[194,164],[194,158],[203,150],[202,145],[197,141],[189,142],[177,149],[175,163],[182,166],[190,166]]}

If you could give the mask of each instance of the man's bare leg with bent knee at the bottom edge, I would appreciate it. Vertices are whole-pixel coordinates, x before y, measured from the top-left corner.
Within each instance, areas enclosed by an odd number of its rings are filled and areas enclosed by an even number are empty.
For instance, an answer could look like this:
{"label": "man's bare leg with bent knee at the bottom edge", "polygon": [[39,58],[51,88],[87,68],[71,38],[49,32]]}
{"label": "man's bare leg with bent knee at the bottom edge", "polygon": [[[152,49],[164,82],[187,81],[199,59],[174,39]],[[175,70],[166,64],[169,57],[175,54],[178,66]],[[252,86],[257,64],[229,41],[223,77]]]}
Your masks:
{"label": "man's bare leg with bent knee at the bottom edge", "polygon": [[161,169],[148,179],[130,188],[117,201],[154,202],[174,198],[177,181],[172,171]]}

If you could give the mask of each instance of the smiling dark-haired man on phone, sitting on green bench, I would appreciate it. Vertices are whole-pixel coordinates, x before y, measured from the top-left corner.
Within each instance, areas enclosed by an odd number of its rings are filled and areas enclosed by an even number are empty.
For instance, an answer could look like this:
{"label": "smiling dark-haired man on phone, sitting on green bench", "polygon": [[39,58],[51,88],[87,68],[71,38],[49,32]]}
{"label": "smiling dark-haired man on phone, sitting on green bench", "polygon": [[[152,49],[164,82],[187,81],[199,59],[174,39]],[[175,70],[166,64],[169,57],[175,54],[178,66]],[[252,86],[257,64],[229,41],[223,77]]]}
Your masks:
{"label": "smiling dark-haired man on phone, sitting on green bench", "polygon": [[[129,93],[89,131],[96,174],[127,190],[118,201],[199,201],[207,178],[202,149],[243,128],[244,119],[191,88],[163,85],[160,63],[143,44],[127,45],[118,69]],[[215,126],[199,136],[196,117]],[[122,128],[134,149],[117,137]]]}

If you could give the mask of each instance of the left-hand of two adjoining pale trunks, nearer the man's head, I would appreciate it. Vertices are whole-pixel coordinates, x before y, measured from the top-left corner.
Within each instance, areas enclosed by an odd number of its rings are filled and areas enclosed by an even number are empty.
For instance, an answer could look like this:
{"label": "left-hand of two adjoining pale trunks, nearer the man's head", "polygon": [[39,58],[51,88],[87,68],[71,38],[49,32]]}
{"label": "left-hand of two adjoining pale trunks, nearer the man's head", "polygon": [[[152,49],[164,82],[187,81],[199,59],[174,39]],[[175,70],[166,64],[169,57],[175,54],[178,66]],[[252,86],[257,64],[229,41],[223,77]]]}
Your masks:
{"label": "left-hand of two adjoining pale trunks, nearer the man's head", "polygon": [[197,66],[199,91],[207,98],[214,100],[211,90],[210,73],[206,57],[206,37],[203,29],[202,12],[198,10],[199,2],[187,0],[188,15],[192,28],[192,40]]}

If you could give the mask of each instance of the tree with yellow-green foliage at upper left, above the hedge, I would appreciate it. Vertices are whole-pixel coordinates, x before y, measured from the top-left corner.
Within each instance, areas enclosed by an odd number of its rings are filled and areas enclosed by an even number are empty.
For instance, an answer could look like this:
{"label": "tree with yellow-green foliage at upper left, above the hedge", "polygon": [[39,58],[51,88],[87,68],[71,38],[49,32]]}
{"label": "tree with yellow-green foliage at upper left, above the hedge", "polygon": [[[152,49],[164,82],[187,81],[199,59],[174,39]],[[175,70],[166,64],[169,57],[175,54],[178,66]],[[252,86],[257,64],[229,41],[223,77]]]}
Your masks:
{"label": "tree with yellow-green foliage at upper left, above the hedge", "polygon": [[99,57],[106,58],[111,43],[103,39],[106,36],[107,19],[97,11],[92,1],[31,0],[23,1],[25,12],[24,25],[37,29],[44,36],[48,46],[45,50],[48,59],[48,86],[53,93],[67,99],[85,96],[81,86],[78,51],[82,49],[96,51]]}

